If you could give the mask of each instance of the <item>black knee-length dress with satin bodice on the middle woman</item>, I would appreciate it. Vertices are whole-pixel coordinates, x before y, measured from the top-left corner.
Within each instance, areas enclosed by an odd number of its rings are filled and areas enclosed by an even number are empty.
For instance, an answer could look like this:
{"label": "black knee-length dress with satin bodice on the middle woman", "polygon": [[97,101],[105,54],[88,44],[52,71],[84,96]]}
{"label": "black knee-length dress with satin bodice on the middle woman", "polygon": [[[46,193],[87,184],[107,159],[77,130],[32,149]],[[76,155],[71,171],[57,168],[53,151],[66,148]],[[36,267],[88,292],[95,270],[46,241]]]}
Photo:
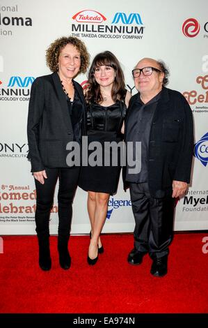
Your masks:
{"label": "black knee-length dress with satin bodice on the middle woman", "polygon": [[[118,147],[118,165],[112,163],[112,149],[106,149],[104,142],[122,143],[123,135],[120,132],[126,114],[126,105],[122,100],[117,100],[111,106],[104,107],[97,103],[88,105],[87,127],[88,145],[98,141],[102,145],[102,166],[81,166],[79,187],[84,191],[109,193],[113,195],[118,188],[120,177],[120,149]],[[88,150],[88,156],[95,150]],[[95,153],[94,153],[95,154]],[[104,156],[110,158],[109,165],[104,165]],[[113,156],[115,156],[115,151]],[[88,157],[89,158],[89,157]],[[115,158],[115,157],[114,157]],[[115,164],[115,163],[114,163]]]}

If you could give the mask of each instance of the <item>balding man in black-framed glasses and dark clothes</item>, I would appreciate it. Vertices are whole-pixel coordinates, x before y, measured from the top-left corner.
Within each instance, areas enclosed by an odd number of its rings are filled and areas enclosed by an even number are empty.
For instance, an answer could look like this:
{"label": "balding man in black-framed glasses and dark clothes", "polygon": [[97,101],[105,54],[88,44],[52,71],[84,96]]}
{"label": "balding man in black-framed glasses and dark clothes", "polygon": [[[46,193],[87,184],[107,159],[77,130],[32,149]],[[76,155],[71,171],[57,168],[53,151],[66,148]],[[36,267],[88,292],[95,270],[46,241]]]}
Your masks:
{"label": "balding man in black-framed glasses and dark clothes", "polygon": [[125,123],[127,147],[128,142],[141,142],[141,158],[133,147],[141,171],[132,173],[132,161],[127,161],[125,174],[136,223],[127,260],[141,264],[149,253],[153,276],[167,274],[175,198],[186,192],[193,155],[191,108],[182,94],[165,87],[168,74],[161,61],[138,62],[132,70],[138,94],[131,97]]}

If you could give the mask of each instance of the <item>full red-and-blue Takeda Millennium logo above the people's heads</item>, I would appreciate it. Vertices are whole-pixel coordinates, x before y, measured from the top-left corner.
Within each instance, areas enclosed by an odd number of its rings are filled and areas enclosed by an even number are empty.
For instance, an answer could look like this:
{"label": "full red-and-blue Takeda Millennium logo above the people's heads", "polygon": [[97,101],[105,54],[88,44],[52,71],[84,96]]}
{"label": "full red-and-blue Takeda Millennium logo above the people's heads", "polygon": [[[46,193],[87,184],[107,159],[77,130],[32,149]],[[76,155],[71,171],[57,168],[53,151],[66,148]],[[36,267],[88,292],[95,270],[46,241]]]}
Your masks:
{"label": "full red-and-blue Takeda Millennium logo above the people's heads", "polygon": [[145,29],[139,13],[118,12],[107,18],[97,10],[81,10],[72,16],[72,20],[71,33],[78,38],[139,40],[143,38]]}

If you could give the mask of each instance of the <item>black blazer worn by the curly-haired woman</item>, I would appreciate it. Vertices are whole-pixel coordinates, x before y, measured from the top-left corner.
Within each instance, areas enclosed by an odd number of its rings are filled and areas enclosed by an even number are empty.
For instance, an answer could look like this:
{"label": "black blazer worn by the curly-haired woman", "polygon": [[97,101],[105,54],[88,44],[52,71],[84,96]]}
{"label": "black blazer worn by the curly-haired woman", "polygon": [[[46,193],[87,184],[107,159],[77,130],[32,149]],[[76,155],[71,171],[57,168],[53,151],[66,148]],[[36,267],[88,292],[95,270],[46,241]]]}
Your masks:
{"label": "black blazer worn by the curly-haired woman", "polygon": [[[86,103],[81,85],[74,88],[83,103],[80,126],[86,128]],[[83,131],[84,134],[85,131]],[[67,167],[66,145],[74,139],[72,122],[61,80],[57,73],[37,77],[31,87],[27,124],[31,172],[49,167]]]}

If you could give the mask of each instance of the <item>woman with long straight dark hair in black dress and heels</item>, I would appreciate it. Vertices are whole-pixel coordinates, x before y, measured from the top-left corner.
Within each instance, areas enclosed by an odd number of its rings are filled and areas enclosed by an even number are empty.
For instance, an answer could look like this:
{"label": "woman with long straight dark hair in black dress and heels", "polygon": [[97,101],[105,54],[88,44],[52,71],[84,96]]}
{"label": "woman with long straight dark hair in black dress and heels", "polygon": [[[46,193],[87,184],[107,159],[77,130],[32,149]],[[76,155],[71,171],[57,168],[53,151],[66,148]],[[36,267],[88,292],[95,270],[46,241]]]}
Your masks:
{"label": "woman with long straight dark hair in black dress and heels", "polygon": [[[123,122],[131,94],[125,89],[125,79],[118,59],[109,51],[95,56],[88,74],[88,83],[88,146],[90,142],[99,142],[102,153],[97,156],[99,158],[94,158],[99,162],[99,165],[95,165],[92,163],[93,151],[88,151],[88,166],[81,167],[79,186],[88,191],[91,224],[88,264],[95,264],[98,253],[104,251],[99,234],[106,219],[109,196],[118,188],[121,169],[120,151],[116,151],[118,164],[113,166],[115,151],[104,149],[104,144],[122,142]],[[104,165],[104,158],[107,157],[110,158],[108,166]]]}

